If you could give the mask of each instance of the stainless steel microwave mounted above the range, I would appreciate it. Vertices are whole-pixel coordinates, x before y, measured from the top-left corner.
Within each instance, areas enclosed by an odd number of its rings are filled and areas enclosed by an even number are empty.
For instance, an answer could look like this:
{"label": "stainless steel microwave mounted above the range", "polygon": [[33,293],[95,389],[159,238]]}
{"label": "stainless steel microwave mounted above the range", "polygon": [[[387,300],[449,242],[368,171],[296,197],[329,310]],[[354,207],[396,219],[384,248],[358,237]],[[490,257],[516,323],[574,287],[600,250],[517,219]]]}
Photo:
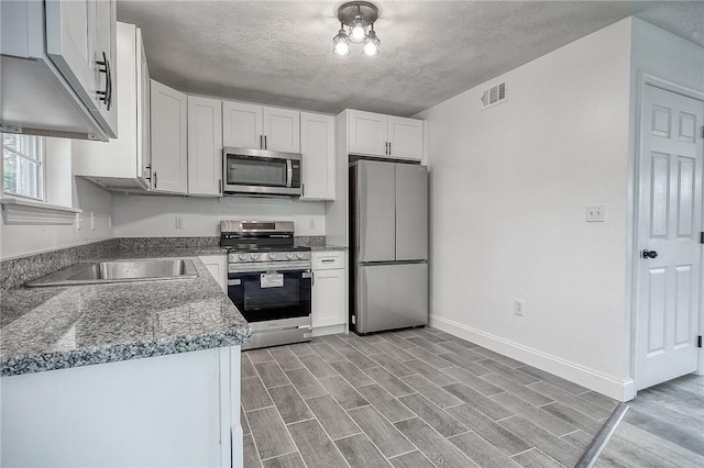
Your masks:
{"label": "stainless steel microwave mounted above the range", "polygon": [[301,194],[301,155],[268,149],[222,148],[222,191],[262,196]]}

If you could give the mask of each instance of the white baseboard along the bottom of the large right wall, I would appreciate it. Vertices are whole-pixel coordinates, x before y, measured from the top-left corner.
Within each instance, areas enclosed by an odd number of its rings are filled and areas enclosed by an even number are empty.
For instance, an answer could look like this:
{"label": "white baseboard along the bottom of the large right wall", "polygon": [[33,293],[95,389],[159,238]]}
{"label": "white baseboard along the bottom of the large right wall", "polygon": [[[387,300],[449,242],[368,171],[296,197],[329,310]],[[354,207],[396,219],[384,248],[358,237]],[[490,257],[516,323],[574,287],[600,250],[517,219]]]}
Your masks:
{"label": "white baseboard along the bottom of the large right wall", "polygon": [[520,360],[546,372],[554,374],[615,400],[629,401],[636,395],[636,387],[632,379],[619,381],[557,356],[509,342],[438,315],[430,314],[430,326]]}

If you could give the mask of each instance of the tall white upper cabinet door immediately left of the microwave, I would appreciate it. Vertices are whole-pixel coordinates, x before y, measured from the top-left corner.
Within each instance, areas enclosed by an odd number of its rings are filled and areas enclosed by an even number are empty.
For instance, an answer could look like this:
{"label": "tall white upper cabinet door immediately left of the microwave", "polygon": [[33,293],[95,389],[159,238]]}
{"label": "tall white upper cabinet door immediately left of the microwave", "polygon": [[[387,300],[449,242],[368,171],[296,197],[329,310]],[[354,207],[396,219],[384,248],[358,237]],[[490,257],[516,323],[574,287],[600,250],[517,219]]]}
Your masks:
{"label": "tall white upper cabinet door immediately left of the microwave", "polygon": [[220,196],[222,101],[188,97],[188,194]]}

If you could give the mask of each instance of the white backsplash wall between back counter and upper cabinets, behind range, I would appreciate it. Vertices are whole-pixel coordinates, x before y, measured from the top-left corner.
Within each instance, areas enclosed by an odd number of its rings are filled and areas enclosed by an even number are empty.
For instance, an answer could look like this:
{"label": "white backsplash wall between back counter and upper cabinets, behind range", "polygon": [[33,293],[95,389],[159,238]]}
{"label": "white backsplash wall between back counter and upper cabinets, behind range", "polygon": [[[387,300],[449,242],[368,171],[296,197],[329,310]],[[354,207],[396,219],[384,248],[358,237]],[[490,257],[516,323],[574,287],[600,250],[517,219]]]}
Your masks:
{"label": "white backsplash wall between back counter and upper cabinets, behind range", "polygon": [[[176,218],[184,227],[176,229]],[[117,237],[218,236],[220,221],[294,221],[296,235],[324,235],[323,202],[289,199],[235,199],[114,196]],[[314,223],[311,227],[310,223]]]}

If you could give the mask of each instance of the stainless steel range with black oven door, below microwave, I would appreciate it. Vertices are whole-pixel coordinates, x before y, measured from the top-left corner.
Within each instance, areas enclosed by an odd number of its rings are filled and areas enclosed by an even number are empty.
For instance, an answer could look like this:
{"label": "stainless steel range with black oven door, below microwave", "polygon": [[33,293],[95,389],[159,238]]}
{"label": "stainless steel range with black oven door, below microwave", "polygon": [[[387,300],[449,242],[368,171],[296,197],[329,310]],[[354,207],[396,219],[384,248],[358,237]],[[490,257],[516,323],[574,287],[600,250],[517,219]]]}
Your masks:
{"label": "stainless steel range with black oven door, below microwave", "polygon": [[310,248],[294,245],[290,221],[221,221],[228,296],[252,327],[242,349],[310,341]]}

